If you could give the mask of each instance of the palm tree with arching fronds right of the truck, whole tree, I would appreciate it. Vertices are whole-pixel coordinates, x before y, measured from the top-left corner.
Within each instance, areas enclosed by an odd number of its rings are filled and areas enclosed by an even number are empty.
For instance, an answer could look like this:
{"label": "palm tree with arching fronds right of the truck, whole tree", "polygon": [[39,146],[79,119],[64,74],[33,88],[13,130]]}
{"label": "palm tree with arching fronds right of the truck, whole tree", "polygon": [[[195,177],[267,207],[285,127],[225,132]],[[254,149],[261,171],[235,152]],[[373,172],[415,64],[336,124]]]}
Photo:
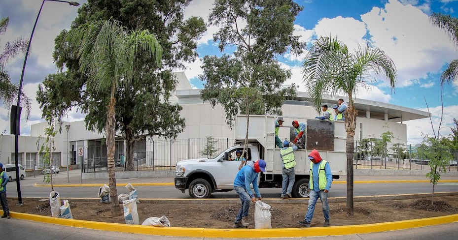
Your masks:
{"label": "palm tree with arching fronds right of the truck, whole tree", "polygon": [[376,82],[376,76],[385,73],[391,90],[394,90],[396,68],[393,61],[380,49],[368,44],[358,46],[349,53],[347,46],[337,38],[320,37],[308,52],[303,74],[306,87],[312,95],[319,112],[323,94],[346,94],[349,106],[345,112],[347,131],[347,213],[353,214],[353,151],[354,129],[357,111],[353,106],[353,95],[359,88],[368,88]]}

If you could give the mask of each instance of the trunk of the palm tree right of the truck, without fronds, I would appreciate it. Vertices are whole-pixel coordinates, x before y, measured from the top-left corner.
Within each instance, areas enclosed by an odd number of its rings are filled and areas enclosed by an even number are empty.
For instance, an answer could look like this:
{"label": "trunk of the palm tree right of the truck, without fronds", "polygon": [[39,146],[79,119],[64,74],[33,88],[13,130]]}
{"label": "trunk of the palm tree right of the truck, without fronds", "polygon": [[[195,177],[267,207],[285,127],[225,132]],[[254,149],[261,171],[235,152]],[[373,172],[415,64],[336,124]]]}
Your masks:
{"label": "trunk of the palm tree right of the truck, without fronds", "polygon": [[346,111],[345,130],[347,131],[347,214],[353,215],[353,152],[354,152],[354,129],[356,128],[356,116],[352,101]]}

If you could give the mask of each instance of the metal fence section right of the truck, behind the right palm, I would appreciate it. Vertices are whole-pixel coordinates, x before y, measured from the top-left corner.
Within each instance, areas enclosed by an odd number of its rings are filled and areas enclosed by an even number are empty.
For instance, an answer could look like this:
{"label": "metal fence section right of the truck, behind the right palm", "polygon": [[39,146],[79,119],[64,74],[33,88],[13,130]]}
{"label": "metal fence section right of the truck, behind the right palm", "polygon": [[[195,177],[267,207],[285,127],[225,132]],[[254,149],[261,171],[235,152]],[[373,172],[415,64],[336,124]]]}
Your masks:
{"label": "metal fence section right of the truck, behind the right palm", "polygon": [[[430,171],[428,149],[425,146],[383,143],[382,141],[356,141],[354,168],[356,169],[401,169]],[[458,171],[458,151],[449,151],[447,171]]]}

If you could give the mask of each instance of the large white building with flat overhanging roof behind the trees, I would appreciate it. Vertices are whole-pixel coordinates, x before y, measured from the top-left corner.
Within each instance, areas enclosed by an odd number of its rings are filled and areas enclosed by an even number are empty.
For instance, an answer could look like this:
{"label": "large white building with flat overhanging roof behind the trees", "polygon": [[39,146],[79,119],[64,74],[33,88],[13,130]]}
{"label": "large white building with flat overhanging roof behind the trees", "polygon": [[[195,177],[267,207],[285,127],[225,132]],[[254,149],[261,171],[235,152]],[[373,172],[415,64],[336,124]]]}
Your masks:
{"label": "large white building with flat overhanging roof behind the trees", "polygon": [[[186,127],[176,140],[205,138],[208,136],[233,138],[233,130],[226,124],[226,115],[223,108],[218,105],[212,108],[209,103],[204,102],[200,98],[200,90],[192,89],[183,72],[176,73],[176,76],[179,85],[171,101],[183,107],[180,115],[186,120]],[[327,104],[331,108],[339,98],[348,101],[345,97],[325,96],[322,104]],[[358,110],[355,140],[365,137],[380,138],[382,133],[391,131],[395,137],[393,143],[406,143],[407,130],[406,125],[402,122],[429,117],[427,112],[416,109],[358,98],[353,100],[354,106]],[[284,126],[291,125],[291,120],[294,120],[295,117],[315,118],[320,115],[316,112],[312,105],[311,97],[306,92],[297,92],[294,100],[285,101],[282,112],[285,120]],[[68,135],[65,128],[66,125],[70,125]],[[31,136],[19,136],[19,163],[26,169],[34,169],[35,166],[38,169],[42,168],[42,156],[38,153],[37,142],[39,136],[44,136],[45,127],[47,127],[46,122],[34,124],[31,127]],[[77,156],[77,150],[80,147],[84,148],[85,155],[90,155],[93,159],[106,157],[106,148],[104,149],[102,145],[103,137],[103,133],[87,131],[84,121],[64,122],[61,133],[58,133],[55,137],[54,145],[56,150],[53,153],[55,159],[53,165],[67,166],[67,161],[69,161],[70,165],[79,165],[81,157]],[[153,140],[157,141],[159,138],[148,139],[147,142]],[[40,142],[42,143],[43,140]],[[146,143],[144,145],[142,148],[145,151],[152,151],[147,150]],[[70,154],[67,153],[67,148],[70,150]],[[170,147],[157,148],[154,151],[169,151],[170,149]],[[124,144],[122,141],[117,141],[115,158],[119,159],[118,156],[122,153],[124,153]],[[3,164],[13,163],[12,159],[14,159],[14,135],[1,135],[0,161]],[[181,159],[174,159],[172,162],[171,158],[170,162],[174,164],[178,160]]]}

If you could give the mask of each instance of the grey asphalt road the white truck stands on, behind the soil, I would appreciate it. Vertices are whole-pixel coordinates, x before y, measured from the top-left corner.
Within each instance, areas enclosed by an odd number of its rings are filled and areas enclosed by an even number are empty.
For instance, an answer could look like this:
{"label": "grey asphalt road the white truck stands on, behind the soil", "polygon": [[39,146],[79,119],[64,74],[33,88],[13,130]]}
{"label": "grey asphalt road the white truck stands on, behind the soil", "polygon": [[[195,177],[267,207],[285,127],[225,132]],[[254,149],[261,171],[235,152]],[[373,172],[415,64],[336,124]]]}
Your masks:
{"label": "grey asphalt road the white truck stands on, behind the soil", "polygon": [[[76,174],[76,173],[72,173]],[[67,178],[67,175],[60,173],[55,175],[56,178]],[[21,180],[22,197],[49,197],[50,187],[34,187],[35,182],[41,182],[42,175],[28,177]],[[134,184],[135,185],[135,184]],[[158,199],[189,199],[188,191],[181,193],[174,186],[136,186],[140,198],[158,198]],[[97,198],[99,187],[54,187],[61,196],[66,198]],[[118,194],[128,191],[124,187],[118,187]],[[263,198],[280,198],[281,188],[261,188]],[[435,192],[456,192],[458,191],[458,182],[438,183]],[[431,193],[432,185],[428,182],[421,183],[355,183],[354,196],[373,196],[373,195],[390,195],[390,194],[412,194],[412,193]],[[9,182],[7,185],[8,197],[17,196],[16,182]],[[346,184],[333,184],[329,197],[346,197]],[[211,198],[238,198],[234,192],[212,193]]]}

